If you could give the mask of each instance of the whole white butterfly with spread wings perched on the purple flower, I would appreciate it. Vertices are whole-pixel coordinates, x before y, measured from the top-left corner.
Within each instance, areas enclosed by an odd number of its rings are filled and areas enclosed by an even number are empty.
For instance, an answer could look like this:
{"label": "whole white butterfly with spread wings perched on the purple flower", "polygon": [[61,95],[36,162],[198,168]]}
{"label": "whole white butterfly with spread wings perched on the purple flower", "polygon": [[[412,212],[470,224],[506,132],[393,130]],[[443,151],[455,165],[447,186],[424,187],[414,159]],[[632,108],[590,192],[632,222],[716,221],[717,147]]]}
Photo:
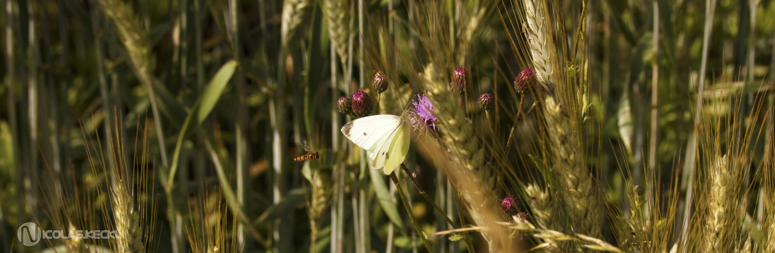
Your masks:
{"label": "whole white butterfly with spread wings perched on the purple flower", "polygon": [[412,132],[405,116],[379,114],[350,121],[342,126],[342,133],[371,158],[371,168],[384,168],[391,174],[401,165],[409,151]]}

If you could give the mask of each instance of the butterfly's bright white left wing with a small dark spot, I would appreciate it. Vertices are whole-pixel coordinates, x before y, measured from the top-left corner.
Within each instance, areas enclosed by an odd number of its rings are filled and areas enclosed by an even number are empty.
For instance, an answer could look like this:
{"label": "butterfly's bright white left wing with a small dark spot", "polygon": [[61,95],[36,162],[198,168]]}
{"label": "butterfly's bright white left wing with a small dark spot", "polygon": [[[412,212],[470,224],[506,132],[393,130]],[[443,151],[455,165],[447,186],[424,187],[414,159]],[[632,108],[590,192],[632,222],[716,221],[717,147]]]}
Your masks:
{"label": "butterfly's bright white left wing with a small dark spot", "polygon": [[342,126],[342,133],[358,147],[369,151],[369,158],[374,160],[376,152],[371,151],[376,151],[383,146],[399,123],[400,120],[395,115],[367,116],[346,123]]}

